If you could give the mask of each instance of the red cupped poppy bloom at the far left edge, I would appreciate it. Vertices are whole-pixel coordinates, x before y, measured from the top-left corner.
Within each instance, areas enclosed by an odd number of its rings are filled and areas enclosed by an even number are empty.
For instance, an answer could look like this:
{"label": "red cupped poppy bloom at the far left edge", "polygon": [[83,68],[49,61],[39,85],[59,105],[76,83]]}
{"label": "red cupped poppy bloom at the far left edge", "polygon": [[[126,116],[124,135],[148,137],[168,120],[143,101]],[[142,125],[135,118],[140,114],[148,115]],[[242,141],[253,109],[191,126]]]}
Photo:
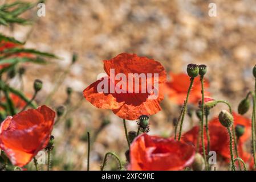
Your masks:
{"label": "red cupped poppy bloom at the far left edge", "polygon": [[25,166],[47,146],[54,118],[55,112],[43,105],[9,116],[1,123],[0,148],[13,165]]}

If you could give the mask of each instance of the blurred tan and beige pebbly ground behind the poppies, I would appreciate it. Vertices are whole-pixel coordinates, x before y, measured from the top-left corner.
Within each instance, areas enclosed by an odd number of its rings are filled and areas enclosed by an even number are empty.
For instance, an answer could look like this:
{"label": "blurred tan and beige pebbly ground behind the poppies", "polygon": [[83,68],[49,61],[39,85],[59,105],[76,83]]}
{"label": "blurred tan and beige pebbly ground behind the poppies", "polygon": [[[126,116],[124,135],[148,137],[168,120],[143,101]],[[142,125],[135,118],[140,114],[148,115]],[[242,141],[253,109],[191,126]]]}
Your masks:
{"label": "blurred tan and beige pebbly ground behind the poppies", "polygon": [[[3,2],[13,1],[0,0],[0,4]],[[216,3],[217,16],[208,15],[209,3]],[[53,132],[52,169],[87,168],[87,131],[94,140],[92,170],[100,169],[107,151],[116,152],[125,163],[127,143],[122,119],[111,110],[97,109],[82,97],[83,89],[94,82],[99,73],[104,73],[102,60],[121,52],[158,60],[166,72],[185,72],[189,63],[206,64],[208,91],[214,98],[229,100],[234,110],[247,91],[253,89],[254,0],[48,0],[45,17],[38,17],[37,10],[34,8],[23,15],[34,20],[33,24],[0,26],[0,32],[26,41],[26,48],[60,57],[48,60],[46,65],[23,65],[25,93],[32,95],[33,82],[39,78],[43,81],[43,90],[36,101],[56,109],[66,105],[67,87],[74,91],[70,104],[65,106],[68,107],[66,114]],[[75,64],[71,64],[73,53],[78,55]],[[13,79],[11,84],[19,83]],[[180,110],[168,98],[162,104],[168,104],[168,108],[151,116],[149,134],[167,137],[173,133],[172,119]],[[216,116],[217,111],[213,111],[211,117]],[[136,131],[135,121],[127,125],[129,131]],[[107,168],[116,167],[113,163]]]}

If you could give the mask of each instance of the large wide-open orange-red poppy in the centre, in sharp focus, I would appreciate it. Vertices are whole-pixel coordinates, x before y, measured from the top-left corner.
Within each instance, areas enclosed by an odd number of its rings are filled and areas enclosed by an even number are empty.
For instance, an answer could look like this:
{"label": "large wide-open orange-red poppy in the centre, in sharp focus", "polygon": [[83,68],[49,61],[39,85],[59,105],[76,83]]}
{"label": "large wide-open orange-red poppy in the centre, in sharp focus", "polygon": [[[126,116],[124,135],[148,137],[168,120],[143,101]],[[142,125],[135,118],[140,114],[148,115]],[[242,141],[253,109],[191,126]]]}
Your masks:
{"label": "large wide-open orange-red poppy in the centre, in sharp focus", "polygon": [[[161,110],[160,101],[164,98],[162,94],[162,86],[166,80],[166,73],[162,65],[147,57],[139,57],[135,54],[121,53],[111,60],[104,60],[104,70],[107,73],[107,77],[102,78],[88,86],[84,89],[83,94],[87,101],[91,102],[92,105],[101,109],[111,109],[120,118],[135,120],[138,119],[140,115],[152,115]],[[116,79],[111,78],[112,71],[115,71],[113,76],[123,73],[125,76],[116,81]],[[142,73],[142,74],[141,74]],[[129,75],[145,75],[143,79],[139,79],[138,88],[133,86],[134,78],[129,77]],[[155,86],[155,75],[158,74],[158,88]],[[107,81],[107,93],[98,92],[97,86],[100,85],[101,81]],[[131,85],[129,83],[132,82]],[[149,92],[150,90],[144,90],[145,83],[151,82],[154,92]],[[120,85],[121,93],[116,91],[111,93],[111,85],[116,87]],[[156,98],[149,97],[153,94],[158,94]]]}

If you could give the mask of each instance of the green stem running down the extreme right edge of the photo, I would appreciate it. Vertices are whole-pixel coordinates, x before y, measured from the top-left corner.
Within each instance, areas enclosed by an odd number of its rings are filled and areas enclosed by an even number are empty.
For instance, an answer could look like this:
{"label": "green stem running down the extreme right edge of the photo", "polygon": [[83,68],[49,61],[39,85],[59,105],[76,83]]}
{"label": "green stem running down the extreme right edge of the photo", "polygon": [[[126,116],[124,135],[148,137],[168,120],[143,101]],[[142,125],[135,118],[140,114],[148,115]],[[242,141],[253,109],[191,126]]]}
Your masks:
{"label": "green stem running down the extreme right edge of the photo", "polygon": [[253,98],[253,116],[251,117],[251,137],[253,143],[253,160],[254,168],[256,168],[256,146],[255,146],[255,108],[256,108],[256,80],[254,86],[254,98]]}

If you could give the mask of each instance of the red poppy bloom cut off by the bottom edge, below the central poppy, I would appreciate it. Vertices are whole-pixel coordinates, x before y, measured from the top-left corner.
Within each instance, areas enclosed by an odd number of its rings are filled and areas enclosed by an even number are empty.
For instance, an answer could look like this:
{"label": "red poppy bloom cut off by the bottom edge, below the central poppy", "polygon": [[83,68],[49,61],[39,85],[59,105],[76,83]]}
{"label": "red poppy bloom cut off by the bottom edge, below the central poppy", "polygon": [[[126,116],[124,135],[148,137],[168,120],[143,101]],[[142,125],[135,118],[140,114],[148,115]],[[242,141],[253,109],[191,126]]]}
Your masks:
{"label": "red poppy bloom cut off by the bottom edge, below the central poppy", "polygon": [[192,144],[141,134],[131,144],[129,170],[182,170],[192,164],[194,155]]}

